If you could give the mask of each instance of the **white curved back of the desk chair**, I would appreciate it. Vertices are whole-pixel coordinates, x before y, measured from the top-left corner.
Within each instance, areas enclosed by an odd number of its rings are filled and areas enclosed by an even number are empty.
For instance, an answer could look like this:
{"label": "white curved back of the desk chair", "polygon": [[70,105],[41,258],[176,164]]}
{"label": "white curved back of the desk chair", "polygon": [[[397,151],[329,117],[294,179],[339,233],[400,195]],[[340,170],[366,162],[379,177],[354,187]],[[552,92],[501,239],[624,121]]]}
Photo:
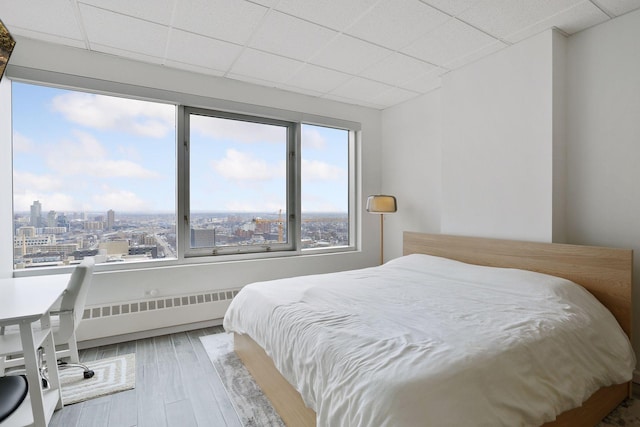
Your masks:
{"label": "white curved back of the desk chair", "polygon": [[[85,258],[71,274],[71,279],[67,284],[67,288],[62,295],[59,310],[62,312],[71,312],[72,315],[60,316],[59,334],[66,338],[70,337],[75,328],[82,320],[84,313],[84,305],[87,301],[87,294],[91,287],[91,279],[93,277],[93,267],[95,261],[93,258]],[[64,341],[66,341],[66,338]]]}

